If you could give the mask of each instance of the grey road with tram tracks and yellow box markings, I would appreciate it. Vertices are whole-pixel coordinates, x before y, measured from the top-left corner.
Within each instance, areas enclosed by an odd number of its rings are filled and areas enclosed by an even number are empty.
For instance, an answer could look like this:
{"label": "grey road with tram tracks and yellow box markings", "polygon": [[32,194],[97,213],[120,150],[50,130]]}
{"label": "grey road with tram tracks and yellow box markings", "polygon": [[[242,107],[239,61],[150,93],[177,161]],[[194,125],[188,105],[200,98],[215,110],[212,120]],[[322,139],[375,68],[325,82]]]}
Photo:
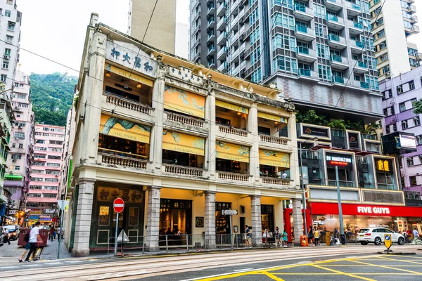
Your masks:
{"label": "grey road with tram tracks and yellow box markings", "polygon": [[[62,259],[0,266],[4,280],[422,280],[422,251],[381,246],[219,251],[119,259]],[[30,269],[30,270],[28,270]]]}

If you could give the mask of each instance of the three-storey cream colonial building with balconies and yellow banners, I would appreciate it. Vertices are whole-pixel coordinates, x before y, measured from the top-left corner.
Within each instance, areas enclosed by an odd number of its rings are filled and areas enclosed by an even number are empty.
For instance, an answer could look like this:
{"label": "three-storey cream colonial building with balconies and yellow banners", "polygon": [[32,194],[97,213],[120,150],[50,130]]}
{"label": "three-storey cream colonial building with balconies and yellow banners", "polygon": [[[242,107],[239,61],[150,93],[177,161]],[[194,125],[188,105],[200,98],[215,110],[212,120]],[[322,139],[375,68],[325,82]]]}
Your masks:
{"label": "three-storey cream colonial building with balconies and yellow banners", "polygon": [[198,235],[186,241],[210,249],[245,225],[260,245],[264,229],[283,228],[286,200],[302,235],[294,105],[274,86],[158,51],[97,18],[77,89],[72,254],[107,249],[116,197],[119,232],[150,251],[165,232]]}

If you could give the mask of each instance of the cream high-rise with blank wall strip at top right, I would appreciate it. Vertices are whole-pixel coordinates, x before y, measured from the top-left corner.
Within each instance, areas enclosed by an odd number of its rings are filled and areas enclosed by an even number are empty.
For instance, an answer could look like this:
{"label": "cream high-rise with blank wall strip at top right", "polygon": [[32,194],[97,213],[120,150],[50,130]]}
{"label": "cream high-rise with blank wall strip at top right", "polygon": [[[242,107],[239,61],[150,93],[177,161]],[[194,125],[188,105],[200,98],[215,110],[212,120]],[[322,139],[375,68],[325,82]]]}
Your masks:
{"label": "cream high-rise with blank wall strip at top right", "polygon": [[414,0],[371,0],[369,12],[379,81],[418,67],[418,51],[407,38],[419,32]]}

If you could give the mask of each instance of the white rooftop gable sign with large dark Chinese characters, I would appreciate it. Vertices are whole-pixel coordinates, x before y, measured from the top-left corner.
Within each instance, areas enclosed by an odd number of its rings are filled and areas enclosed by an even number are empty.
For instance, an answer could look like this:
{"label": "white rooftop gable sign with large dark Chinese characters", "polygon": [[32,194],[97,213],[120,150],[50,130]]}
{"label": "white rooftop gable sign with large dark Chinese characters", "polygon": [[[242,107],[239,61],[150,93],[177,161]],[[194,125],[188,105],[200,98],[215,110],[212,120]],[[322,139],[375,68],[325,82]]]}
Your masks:
{"label": "white rooftop gable sign with large dark Chinese characters", "polygon": [[156,76],[157,62],[137,46],[122,41],[107,41],[107,60],[128,67],[136,72]]}

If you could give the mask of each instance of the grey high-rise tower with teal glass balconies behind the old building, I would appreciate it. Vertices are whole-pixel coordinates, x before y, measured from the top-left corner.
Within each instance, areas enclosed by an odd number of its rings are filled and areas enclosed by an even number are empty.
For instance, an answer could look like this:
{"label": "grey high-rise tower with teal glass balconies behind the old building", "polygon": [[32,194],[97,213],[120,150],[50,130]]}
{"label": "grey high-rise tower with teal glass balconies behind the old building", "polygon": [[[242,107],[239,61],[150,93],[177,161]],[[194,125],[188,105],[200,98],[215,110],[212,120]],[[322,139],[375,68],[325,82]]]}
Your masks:
{"label": "grey high-rise tower with teal glass balconies behind the old building", "polygon": [[298,110],[381,119],[369,1],[192,0],[190,58],[275,84]]}

